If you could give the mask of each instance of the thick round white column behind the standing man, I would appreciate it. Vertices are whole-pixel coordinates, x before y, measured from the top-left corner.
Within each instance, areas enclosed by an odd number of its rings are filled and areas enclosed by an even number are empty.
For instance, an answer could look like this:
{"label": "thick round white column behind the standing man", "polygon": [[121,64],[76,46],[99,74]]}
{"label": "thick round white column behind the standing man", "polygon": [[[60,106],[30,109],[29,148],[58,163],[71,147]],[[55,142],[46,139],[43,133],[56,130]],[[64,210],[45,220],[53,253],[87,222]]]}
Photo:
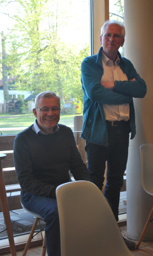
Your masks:
{"label": "thick round white column behind the standing man", "polygon": [[[153,142],[152,10],[152,0],[124,0],[125,57],[132,61],[147,84],[145,98],[134,99],[137,134],[133,140],[130,140],[126,167],[127,237],[134,240],[139,240],[153,205],[153,197],[148,195],[141,185],[139,150],[141,144]],[[149,224],[143,241],[152,239],[153,221]]]}

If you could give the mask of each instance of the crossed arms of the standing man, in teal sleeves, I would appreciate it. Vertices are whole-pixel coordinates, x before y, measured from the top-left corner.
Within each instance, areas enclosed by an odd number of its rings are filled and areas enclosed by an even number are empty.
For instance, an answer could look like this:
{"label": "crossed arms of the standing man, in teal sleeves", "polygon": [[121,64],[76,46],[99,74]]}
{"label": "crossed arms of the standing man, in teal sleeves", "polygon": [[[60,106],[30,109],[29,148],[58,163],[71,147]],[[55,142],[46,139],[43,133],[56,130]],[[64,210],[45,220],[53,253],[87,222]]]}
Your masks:
{"label": "crossed arms of the standing man, in teal sleeves", "polygon": [[[84,95],[91,101],[104,104],[130,103],[132,98],[143,98],[146,94],[145,81],[136,72],[133,64],[126,60],[123,69],[127,81],[101,82],[103,71],[91,57],[86,58],[81,65],[81,81]],[[103,67],[101,67],[103,68]]]}

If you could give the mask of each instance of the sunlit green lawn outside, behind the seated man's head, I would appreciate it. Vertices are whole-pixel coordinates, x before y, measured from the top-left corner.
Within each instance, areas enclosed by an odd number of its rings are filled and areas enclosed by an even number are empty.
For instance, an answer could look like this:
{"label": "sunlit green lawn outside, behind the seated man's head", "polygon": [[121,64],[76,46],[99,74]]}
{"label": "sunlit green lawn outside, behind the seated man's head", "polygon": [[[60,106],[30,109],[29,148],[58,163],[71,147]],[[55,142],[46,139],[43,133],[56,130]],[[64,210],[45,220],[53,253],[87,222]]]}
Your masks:
{"label": "sunlit green lawn outside, behind the seated man's head", "polygon": [[[61,115],[59,123],[70,125],[73,130],[73,117],[74,115]],[[7,131],[5,129],[10,129],[11,127],[28,127],[35,121],[35,116],[31,114],[20,114],[20,115],[10,115],[10,114],[0,114],[0,135],[17,134],[23,129]]]}

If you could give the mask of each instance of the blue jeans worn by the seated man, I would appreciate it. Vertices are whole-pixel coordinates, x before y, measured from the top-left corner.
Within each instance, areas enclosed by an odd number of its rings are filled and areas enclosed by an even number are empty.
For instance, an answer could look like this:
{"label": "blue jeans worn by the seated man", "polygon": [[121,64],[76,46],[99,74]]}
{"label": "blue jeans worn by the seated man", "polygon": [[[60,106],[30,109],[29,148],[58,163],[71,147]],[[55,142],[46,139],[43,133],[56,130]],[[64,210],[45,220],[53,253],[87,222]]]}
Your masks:
{"label": "blue jeans worn by the seated man", "polygon": [[28,209],[39,214],[46,222],[45,239],[48,256],[61,256],[57,200],[25,193],[22,195],[22,202]]}

